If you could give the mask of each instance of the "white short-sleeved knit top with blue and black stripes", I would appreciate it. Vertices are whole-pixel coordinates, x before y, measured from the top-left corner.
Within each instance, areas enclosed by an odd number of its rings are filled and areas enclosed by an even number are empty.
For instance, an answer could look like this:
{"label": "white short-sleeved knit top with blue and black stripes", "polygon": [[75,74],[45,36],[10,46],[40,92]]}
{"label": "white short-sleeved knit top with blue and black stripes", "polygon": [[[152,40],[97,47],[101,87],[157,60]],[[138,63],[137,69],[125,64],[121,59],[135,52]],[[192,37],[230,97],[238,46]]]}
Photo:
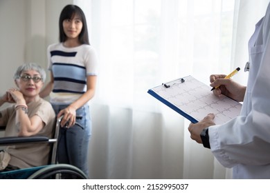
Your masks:
{"label": "white short-sleeved knit top with blue and black stripes", "polygon": [[53,72],[51,103],[69,104],[87,90],[87,76],[96,76],[96,51],[83,44],[66,48],[62,43],[48,46],[48,70]]}

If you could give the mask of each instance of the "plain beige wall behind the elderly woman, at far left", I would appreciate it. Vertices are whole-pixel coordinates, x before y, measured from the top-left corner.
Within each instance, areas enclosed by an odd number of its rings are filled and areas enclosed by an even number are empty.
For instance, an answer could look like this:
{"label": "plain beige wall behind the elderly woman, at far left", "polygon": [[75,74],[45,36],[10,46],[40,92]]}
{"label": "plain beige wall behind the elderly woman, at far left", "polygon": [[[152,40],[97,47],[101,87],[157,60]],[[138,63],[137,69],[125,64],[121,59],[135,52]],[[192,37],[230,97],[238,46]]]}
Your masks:
{"label": "plain beige wall behind the elderly woman, at far left", "polygon": [[15,86],[12,75],[24,63],[26,45],[26,4],[24,1],[0,1],[0,94]]}

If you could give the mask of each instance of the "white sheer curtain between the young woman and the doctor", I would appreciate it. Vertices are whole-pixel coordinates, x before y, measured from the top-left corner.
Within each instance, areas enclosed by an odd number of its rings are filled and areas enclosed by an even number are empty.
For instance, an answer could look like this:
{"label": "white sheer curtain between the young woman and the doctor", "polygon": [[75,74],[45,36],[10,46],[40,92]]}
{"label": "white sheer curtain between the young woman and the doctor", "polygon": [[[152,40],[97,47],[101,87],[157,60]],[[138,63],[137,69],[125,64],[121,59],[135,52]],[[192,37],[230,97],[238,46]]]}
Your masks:
{"label": "white sheer curtain between the young woman and the doctor", "polygon": [[[190,139],[189,121],[147,94],[147,90],[189,74],[208,83],[210,74],[226,74],[236,66],[244,69],[248,57],[242,53],[247,52],[247,39],[267,3],[256,0],[75,3],[87,14],[91,44],[100,59],[98,90],[91,102],[90,177],[226,178],[226,169],[211,152]],[[262,11],[257,10],[257,17],[251,14],[252,19],[246,21],[252,3],[262,4]],[[249,31],[242,29],[242,22],[249,26]],[[243,83],[246,75],[239,75]]]}

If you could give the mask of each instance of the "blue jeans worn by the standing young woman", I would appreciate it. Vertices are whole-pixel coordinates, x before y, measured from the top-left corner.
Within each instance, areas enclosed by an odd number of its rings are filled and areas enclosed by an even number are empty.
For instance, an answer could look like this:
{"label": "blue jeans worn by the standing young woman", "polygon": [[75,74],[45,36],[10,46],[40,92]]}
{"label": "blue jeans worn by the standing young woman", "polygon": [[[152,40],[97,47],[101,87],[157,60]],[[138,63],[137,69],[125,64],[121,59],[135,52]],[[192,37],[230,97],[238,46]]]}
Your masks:
{"label": "blue jeans worn by the standing young woman", "polygon": [[[68,105],[53,105],[55,114]],[[89,176],[88,171],[88,146],[91,136],[91,117],[89,105],[84,105],[76,110],[76,123],[71,128],[60,128],[58,141],[57,161],[78,167]]]}

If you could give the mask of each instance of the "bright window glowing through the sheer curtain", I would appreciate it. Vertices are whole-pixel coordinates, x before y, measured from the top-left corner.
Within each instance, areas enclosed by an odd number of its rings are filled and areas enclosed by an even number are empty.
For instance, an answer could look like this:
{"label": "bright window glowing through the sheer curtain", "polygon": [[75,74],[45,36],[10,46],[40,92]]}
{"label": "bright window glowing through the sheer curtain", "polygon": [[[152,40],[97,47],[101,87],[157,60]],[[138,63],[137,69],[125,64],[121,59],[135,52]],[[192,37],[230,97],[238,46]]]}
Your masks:
{"label": "bright window glowing through the sheer curtain", "polygon": [[208,83],[231,67],[233,0],[92,0],[92,9],[105,103],[153,110],[149,88],[189,74]]}

